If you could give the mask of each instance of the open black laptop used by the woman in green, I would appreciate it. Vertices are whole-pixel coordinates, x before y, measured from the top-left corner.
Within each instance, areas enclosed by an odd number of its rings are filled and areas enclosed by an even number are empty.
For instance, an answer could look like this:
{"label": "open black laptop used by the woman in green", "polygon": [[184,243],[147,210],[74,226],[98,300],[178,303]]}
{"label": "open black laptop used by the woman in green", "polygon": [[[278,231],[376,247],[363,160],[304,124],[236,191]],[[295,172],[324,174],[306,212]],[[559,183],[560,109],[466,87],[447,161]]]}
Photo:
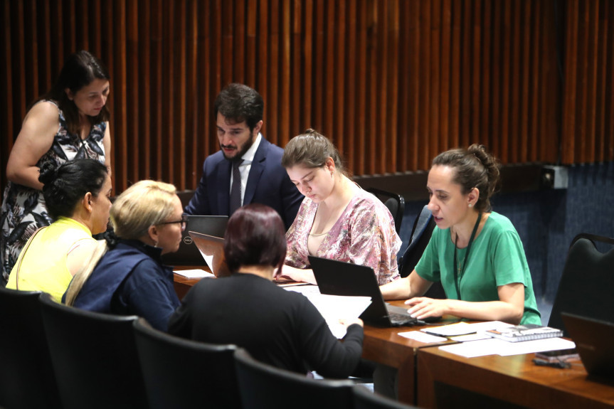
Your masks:
{"label": "open black laptop used by the woman in green", "polygon": [[322,294],[371,297],[371,305],[361,314],[365,324],[403,326],[418,324],[405,307],[395,307],[383,301],[375,272],[371,267],[322,257],[309,256],[312,270]]}

